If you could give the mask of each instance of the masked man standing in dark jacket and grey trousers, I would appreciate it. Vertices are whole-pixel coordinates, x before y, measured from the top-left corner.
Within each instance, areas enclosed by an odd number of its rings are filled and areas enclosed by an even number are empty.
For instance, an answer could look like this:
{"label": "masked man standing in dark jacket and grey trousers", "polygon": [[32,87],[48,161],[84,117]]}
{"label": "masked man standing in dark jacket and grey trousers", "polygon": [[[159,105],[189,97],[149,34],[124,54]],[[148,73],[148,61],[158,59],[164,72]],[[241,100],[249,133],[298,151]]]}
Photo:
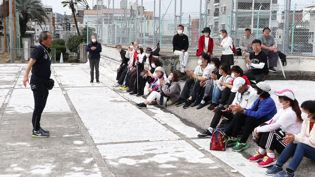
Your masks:
{"label": "masked man standing in dark jacket and grey trousers", "polygon": [[94,67],[95,67],[95,78],[96,83],[100,83],[99,81],[99,64],[100,64],[100,52],[102,51],[102,45],[97,42],[96,36],[91,36],[92,42],[88,44],[88,47],[86,48],[86,51],[89,52],[88,58],[90,62],[90,75],[91,75],[91,81],[90,83],[93,83],[94,81]]}

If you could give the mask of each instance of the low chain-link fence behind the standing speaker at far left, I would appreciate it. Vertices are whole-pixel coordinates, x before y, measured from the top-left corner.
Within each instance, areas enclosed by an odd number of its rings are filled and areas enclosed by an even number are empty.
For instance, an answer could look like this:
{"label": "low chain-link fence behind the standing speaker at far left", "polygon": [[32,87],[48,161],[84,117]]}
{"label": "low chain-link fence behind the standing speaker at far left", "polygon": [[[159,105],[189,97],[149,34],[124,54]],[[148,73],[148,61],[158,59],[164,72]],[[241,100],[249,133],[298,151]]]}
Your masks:
{"label": "low chain-link fence behind the standing speaker at far left", "polygon": [[[14,63],[27,63],[34,49],[5,49],[0,48],[0,63],[10,63],[10,54],[14,54]],[[51,49],[51,62],[56,63],[56,49]]]}

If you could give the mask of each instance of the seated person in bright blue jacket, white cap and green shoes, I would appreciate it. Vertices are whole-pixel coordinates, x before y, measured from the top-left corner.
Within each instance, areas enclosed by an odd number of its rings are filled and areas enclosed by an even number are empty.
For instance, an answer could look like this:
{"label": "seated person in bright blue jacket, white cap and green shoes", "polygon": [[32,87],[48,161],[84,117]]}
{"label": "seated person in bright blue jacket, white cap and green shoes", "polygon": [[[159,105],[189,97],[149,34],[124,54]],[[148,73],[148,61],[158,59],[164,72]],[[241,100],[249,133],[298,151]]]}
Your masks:
{"label": "seated person in bright blue jacket, white cap and green shoes", "polygon": [[[256,127],[272,119],[277,113],[276,104],[268,93],[271,90],[270,85],[265,82],[259,82],[254,88],[258,99],[250,109],[242,108],[238,103],[230,105],[233,113],[240,112],[247,116],[246,118],[233,118],[229,127],[224,131],[227,136],[227,146],[235,145],[232,147],[232,151],[239,152],[249,148],[249,145],[246,143],[249,135]],[[238,140],[237,136],[243,126],[242,137]]]}

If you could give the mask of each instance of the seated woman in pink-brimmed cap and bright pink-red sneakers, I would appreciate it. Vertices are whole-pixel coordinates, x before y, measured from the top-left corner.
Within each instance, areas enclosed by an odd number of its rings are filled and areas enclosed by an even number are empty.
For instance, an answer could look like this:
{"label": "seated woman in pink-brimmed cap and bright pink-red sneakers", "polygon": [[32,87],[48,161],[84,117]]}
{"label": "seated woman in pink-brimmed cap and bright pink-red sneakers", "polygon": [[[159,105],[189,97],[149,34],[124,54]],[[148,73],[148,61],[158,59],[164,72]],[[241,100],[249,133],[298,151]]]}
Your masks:
{"label": "seated woman in pink-brimmed cap and bright pink-red sneakers", "polygon": [[[267,167],[276,164],[275,150],[281,154],[287,146],[282,142],[285,133],[298,134],[302,129],[301,109],[291,90],[285,89],[275,92],[279,97],[276,102],[278,112],[271,120],[254,129],[255,144],[259,146],[258,152],[249,158],[250,162],[259,162],[258,166]],[[267,151],[267,154],[266,154]]]}

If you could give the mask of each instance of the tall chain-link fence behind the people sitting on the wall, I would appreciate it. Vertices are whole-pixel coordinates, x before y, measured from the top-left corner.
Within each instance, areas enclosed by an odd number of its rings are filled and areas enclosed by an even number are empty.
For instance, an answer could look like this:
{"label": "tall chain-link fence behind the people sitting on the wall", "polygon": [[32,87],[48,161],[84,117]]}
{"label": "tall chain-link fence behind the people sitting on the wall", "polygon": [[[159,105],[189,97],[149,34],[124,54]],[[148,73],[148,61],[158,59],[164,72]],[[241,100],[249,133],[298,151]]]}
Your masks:
{"label": "tall chain-link fence behind the people sitting on the wall", "polygon": [[[100,4],[103,2],[103,5]],[[114,4],[113,4],[114,3]],[[99,5],[99,6],[97,6]],[[252,36],[263,35],[269,27],[279,51],[285,54],[315,55],[315,2],[306,0],[96,0],[103,15],[85,14],[90,28],[87,38],[96,34],[99,42],[129,45],[139,41],[145,47],[172,49],[177,26],[185,27],[189,49],[198,48],[201,31],[208,26],[210,37],[221,41],[226,29],[238,48],[245,28]],[[105,9],[104,9],[105,7]],[[98,25],[98,24],[101,24]],[[215,45],[214,51],[221,51]]]}

